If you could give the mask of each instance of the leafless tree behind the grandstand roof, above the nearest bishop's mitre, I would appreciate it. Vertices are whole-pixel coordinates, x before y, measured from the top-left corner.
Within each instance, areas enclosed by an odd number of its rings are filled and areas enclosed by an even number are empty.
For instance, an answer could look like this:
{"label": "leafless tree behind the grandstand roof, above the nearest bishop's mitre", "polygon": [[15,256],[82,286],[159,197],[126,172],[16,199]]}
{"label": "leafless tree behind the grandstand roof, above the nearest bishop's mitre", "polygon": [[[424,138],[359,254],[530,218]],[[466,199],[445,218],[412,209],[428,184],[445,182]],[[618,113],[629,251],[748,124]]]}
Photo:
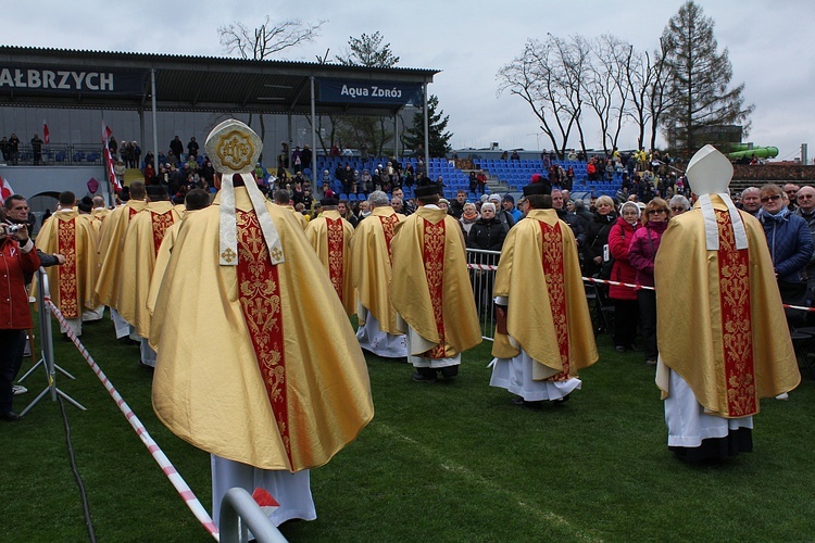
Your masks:
{"label": "leafless tree behind the grandstand roof, above the nearest bishop's mitre", "polygon": [[[276,23],[266,15],[263,24],[251,29],[237,21],[220,26],[218,36],[221,36],[221,45],[228,54],[238,53],[241,59],[262,61],[286,49],[314,41],[319,36],[319,29],[325,23],[325,21],[319,21],[316,24],[306,25],[300,20]],[[264,139],[266,137],[266,125],[263,114],[259,114],[258,117],[261,123],[261,139]],[[248,124],[252,124],[251,114]]]}

